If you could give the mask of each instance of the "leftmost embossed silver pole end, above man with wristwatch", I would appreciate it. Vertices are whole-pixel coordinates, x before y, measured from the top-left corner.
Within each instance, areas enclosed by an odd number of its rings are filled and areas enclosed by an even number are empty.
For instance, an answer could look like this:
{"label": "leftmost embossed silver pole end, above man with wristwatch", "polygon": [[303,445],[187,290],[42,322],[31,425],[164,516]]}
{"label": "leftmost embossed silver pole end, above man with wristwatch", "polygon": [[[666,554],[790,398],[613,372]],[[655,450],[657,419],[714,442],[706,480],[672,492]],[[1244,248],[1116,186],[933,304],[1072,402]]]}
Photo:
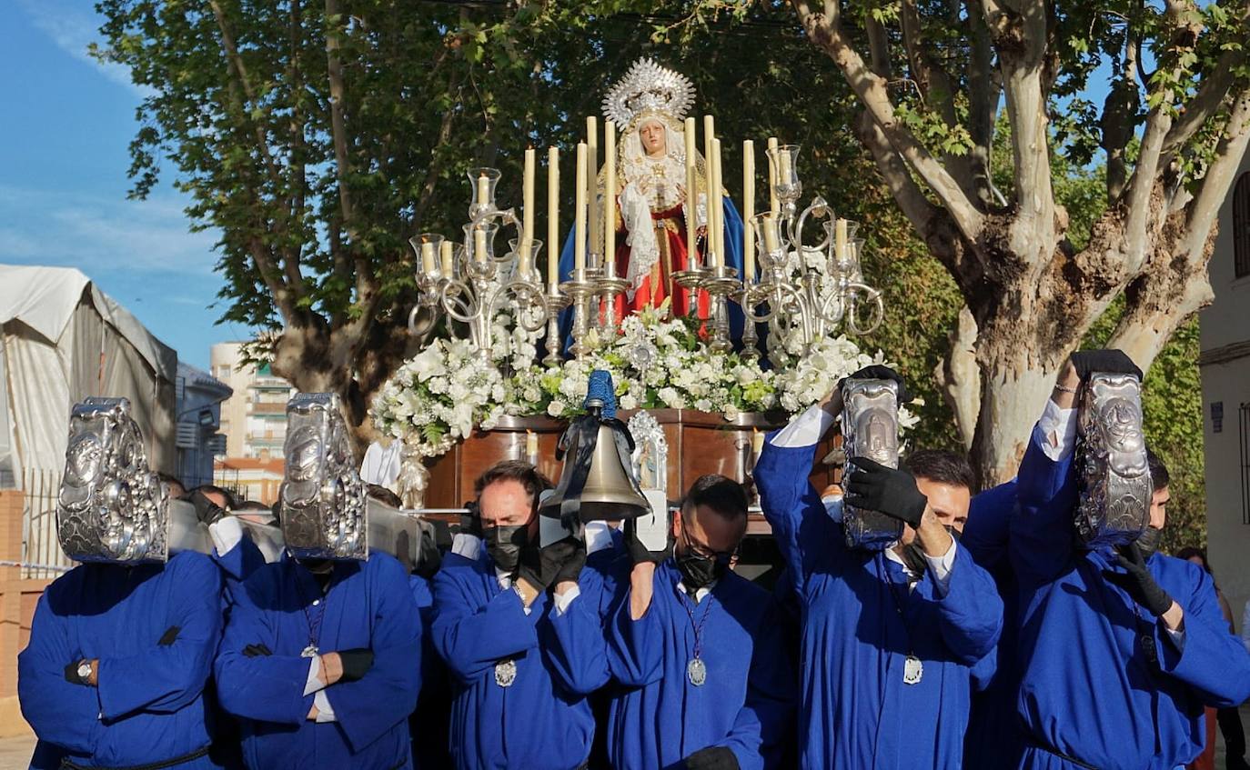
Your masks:
{"label": "leftmost embossed silver pole end, above man with wristwatch", "polygon": [[168,498],[148,468],[130,401],[89,398],[75,405],[56,501],[56,538],[65,555],[74,561],[166,561],[168,520]]}

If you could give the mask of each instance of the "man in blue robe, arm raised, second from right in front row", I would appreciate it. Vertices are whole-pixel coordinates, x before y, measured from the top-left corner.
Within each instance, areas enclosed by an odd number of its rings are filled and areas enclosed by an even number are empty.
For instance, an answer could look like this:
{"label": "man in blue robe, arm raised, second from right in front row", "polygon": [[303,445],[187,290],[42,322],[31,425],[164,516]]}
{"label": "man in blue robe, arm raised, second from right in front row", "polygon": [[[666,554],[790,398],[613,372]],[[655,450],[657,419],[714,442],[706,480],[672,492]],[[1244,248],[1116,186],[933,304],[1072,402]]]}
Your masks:
{"label": "man in blue robe, arm raised, second from right in front row", "polygon": [[[884,368],[858,376],[898,379]],[[986,676],[1002,624],[994,581],[938,516],[966,515],[968,481],[856,459],[862,470],[846,481],[848,501],[908,526],[884,551],[849,549],[840,501],[826,509],[808,480],[840,411],[835,389],[772,434],[755,466],[801,606],[801,764],[959,768],[974,668]]]}

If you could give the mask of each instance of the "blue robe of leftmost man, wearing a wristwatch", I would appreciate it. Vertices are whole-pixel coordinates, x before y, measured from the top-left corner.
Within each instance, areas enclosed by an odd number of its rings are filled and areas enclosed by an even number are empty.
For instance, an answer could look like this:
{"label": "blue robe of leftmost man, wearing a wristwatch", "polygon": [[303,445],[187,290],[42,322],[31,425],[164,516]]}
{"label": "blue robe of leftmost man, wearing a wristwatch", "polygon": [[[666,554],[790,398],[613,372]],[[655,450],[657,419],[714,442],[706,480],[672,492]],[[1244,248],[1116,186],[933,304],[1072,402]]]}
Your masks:
{"label": "blue robe of leftmost man, wearing a wristwatch", "polygon": [[[221,578],[202,554],[165,565],[85,564],[56,579],[18,656],[21,712],[40,739],[32,768],[61,756],[120,768],[168,761],[209,745],[204,685],[221,634]],[[158,644],[178,626],[172,644]],[[99,686],[65,666],[99,659]],[[206,756],[179,768],[214,768]]]}

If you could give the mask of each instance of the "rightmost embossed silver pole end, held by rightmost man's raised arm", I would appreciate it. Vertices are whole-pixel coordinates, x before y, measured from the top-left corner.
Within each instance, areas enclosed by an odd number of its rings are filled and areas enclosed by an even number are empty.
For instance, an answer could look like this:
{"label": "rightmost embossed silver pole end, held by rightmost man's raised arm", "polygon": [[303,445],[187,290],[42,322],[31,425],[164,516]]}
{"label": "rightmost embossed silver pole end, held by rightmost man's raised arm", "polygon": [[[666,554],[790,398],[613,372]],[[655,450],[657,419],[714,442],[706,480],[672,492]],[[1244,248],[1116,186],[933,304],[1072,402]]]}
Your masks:
{"label": "rightmost embossed silver pole end, held by rightmost man's raised arm", "polygon": [[1095,372],[1076,422],[1076,536],[1088,548],[1132,542],[1150,524],[1154,484],[1141,430],[1141,382]]}

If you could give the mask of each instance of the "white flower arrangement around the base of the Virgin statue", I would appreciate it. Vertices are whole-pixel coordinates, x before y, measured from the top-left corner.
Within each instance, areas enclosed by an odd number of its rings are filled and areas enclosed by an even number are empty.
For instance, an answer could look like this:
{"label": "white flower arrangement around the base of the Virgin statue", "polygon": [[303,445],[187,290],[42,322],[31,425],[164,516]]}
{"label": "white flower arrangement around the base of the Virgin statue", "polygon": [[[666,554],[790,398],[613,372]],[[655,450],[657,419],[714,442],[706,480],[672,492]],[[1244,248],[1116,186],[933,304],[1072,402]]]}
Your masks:
{"label": "white flower arrangement around the base of the Virgin statue", "polygon": [[[502,415],[580,414],[595,369],[611,372],[621,409],[696,409],[732,420],[779,408],[801,411],[839,379],[885,362],[880,351],[868,355],[845,336],[818,340],[804,355],[798,329],[774,329],[770,358],[779,365],[761,369],[736,352],[711,352],[690,321],[666,319],[666,311],[630,315],[611,338],[591,332],[586,356],[552,368],[534,362],[541,332],[526,332],[501,312],[490,355],[465,340],[440,339],[401,365],[374,399],[374,425],[416,456],[436,458]],[[900,410],[899,420],[910,428],[916,418]]]}

